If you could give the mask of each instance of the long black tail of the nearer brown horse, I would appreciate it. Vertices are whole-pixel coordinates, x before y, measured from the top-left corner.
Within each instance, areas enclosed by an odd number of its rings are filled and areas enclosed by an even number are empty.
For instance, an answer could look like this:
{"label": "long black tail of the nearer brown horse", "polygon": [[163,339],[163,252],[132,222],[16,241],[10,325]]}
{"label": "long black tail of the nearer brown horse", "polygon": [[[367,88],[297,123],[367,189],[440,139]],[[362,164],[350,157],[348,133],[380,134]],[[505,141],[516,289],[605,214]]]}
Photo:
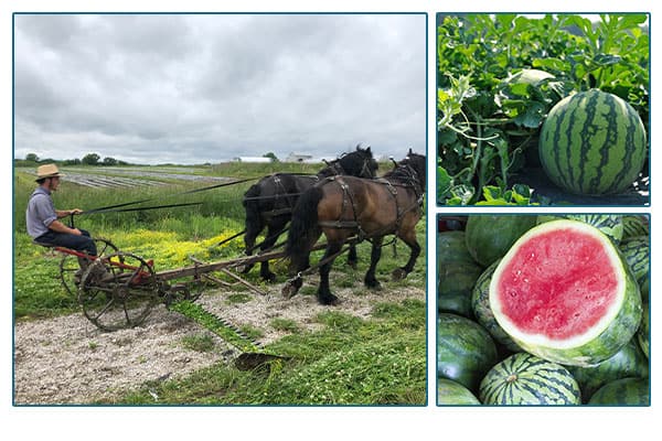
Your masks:
{"label": "long black tail of the nearer brown horse", "polygon": [[291,270],[301,271],[309,266],[310,249],[321,234],[317,207],[322,196],[322,189],[313,186],[303,192],[295,206],[285,246]]}

